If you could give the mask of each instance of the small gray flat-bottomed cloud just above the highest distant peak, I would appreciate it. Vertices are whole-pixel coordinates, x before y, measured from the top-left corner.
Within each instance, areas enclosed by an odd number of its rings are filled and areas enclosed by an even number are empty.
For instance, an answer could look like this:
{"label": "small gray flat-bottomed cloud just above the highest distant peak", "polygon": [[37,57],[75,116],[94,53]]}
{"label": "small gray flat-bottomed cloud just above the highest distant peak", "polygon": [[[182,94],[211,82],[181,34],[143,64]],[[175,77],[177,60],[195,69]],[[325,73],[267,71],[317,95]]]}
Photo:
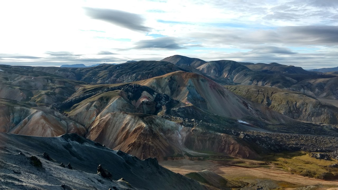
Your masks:
{"label": "small gray flat-bottomed cloud just above the highest distant peak", "polygon": [[173,37],[161,37],[152,40],[140,40],[135,43],[133,49],[144,49],[144,48],[162,48],[162,49],[183,49],[185,47],[179,46],[176,39]]}

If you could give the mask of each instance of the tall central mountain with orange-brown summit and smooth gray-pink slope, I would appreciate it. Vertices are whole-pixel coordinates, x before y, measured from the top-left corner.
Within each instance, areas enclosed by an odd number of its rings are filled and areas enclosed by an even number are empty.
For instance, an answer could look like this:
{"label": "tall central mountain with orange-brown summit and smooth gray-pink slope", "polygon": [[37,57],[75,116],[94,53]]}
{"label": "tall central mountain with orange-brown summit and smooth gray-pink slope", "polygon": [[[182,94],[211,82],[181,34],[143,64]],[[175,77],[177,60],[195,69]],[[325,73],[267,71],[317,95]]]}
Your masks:
{"label": "tall central mountain with orange-brown summit and smooth gray-pink slope", "polygon": [[[280,117],[279,114],[275,115],[274,112],[269,112],[263,107],[262,110],[257,110],[258,113],[252,112],[250,107],[260,105],[246,102],[245,99],[234,95],[213,80],[195,73],[178,71],[136,83],[167,94],[187,105],[192,104],[203,111],[223,117],[242,118],[245,116],[261,118],[267,122],[288,122],[288,118]],[[262,118],[263,115],[267,117]]]}

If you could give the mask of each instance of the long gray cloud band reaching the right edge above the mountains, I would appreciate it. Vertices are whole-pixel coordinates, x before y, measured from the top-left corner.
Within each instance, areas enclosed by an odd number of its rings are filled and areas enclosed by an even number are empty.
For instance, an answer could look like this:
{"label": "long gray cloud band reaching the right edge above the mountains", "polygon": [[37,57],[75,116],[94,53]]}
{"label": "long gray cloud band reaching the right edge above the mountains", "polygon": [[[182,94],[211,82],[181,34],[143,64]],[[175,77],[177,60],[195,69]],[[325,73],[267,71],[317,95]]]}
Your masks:
{"label": "long gray cloud band reaching the right edge above the mountains", "polygon": [[213,29],[192,32],[194,38],[208,45],[283,44],[337,46],[338,26],[285,26],[269,30]]}

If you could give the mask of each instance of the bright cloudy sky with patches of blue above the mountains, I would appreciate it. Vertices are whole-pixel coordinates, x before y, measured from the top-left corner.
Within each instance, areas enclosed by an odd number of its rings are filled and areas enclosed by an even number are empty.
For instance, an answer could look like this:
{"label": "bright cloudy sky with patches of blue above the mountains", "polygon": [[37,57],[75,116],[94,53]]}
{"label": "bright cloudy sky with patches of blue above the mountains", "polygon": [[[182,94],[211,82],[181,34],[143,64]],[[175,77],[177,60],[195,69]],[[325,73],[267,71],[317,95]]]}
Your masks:
{"label": "bright cloudy sky with patches of blue above the mountains", "polygon": [[338,0],[0,2],[0,64],[162,60],[338,66]]}

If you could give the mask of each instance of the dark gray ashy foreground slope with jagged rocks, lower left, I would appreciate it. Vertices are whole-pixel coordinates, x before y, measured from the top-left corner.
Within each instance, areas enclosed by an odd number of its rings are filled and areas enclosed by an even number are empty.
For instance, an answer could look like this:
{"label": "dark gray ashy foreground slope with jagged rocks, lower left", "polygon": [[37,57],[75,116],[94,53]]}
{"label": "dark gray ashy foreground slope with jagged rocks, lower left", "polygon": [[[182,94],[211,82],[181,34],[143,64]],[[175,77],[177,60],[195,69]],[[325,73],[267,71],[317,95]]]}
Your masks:
{"label": "dark gray ashy foreground slope with jagged rocks, lower left", "polygon": [[0,133],[0,144],[5,145],[0,149],[3,189],[207,189],[155,158],[139,160],[76,134],[44,138]]}

